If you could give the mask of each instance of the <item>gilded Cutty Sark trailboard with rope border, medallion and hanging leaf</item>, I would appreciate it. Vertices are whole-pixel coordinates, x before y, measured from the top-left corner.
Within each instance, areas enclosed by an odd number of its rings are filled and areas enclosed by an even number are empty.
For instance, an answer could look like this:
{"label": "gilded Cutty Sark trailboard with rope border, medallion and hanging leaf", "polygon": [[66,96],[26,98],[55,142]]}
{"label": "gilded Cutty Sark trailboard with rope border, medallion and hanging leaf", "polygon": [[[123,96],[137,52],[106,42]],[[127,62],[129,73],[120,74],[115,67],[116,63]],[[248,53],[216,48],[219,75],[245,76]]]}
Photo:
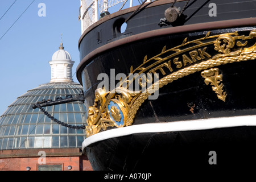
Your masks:
{"label": "gilded Cutty Sark trailboard with rope border, medallion and hanging leaf", "polygon": [[[86,137],[106,130],[107,127],[132,125],[139,107],[151,94],[195,72],[202,71],[205,84],[212,85],[216,97],[225,102],[222,75],[214,67],[256,59],[255,38],[256,30],[250,31],[249,35],[239,35],[238,32],[210,35],[207,32],[203,38],[190,41],[185,38],[179,46],[170,49],[164,46],[158,55],[149,59],[147,55],[144,56],[139,67],[130,67],[130,75],[133,77],[129,75],[121,80],[118,88],[111,92],[104,88],[96,89],[94,105],[88,109]],[[136,92],[129,89],[135,81],[141,86],[141,90]]]}

